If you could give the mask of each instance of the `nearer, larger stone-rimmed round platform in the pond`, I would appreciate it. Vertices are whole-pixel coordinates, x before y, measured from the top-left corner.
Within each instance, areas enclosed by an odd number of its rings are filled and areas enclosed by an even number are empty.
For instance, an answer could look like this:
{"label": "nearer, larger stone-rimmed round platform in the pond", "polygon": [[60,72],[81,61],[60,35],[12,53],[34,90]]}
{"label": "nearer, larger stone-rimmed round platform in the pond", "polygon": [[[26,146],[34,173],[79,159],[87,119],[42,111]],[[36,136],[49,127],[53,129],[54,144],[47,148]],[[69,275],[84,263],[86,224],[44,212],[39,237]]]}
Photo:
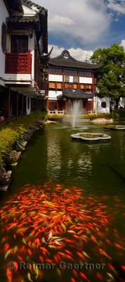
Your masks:
{"label": "nearer, larger stone-rimmed round platform in the pond", "polygon": [[84,142],[100,142],[100,141],[109,141],[111,136],[103,133],[75,133],[71,135],[72,140],[80,140]]}

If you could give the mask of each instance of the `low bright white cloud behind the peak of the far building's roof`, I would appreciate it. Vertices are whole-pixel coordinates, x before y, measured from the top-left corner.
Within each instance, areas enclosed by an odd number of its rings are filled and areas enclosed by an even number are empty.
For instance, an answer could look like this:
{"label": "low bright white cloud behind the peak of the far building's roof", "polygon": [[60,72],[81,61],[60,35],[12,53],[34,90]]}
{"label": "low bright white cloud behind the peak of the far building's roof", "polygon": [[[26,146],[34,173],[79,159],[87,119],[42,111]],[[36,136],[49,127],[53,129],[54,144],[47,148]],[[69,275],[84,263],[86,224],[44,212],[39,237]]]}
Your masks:
{"label": "low bright white cloud behind the peak of the far building's roof", "polygon": [[[63,47],[58,47],[57,45],[54,46],[48,45],[48,51],[50,51],[52,47],[53,47],[53,51],[51,53],[51,58],[59,56],[60,54],[62,54],[62,51],[64,50]],[[78,61],[85,61],[86,58],[90,59],[90,57],[93,55],[93,51],[91,50],[87,51],[81,48],[77,48],[77,49],[70,48],[67,50],[70,52],[70,55]]]}

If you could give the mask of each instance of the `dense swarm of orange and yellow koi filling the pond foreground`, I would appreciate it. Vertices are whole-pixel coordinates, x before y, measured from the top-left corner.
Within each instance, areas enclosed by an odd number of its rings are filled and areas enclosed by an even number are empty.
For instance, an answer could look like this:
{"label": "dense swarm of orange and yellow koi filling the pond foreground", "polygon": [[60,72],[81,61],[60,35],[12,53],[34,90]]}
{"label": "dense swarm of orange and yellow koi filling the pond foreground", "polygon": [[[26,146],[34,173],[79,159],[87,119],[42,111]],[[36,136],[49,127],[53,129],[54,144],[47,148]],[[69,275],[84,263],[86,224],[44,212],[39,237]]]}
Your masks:
{"label": "dense swarm of orange and yellow koi filling the pond foreground", "polygon": [[1,281],[122,281],[124,207],[77,187],[25,185],[1,207]]}

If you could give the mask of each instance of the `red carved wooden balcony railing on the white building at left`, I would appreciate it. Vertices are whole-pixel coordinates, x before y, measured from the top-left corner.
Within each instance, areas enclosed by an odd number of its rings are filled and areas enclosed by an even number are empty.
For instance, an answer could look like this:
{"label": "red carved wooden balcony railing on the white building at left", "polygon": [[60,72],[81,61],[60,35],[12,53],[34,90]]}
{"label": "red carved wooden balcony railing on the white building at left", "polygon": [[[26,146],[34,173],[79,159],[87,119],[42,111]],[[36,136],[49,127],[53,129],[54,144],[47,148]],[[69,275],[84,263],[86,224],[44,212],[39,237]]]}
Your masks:
{"label": "red carved wooden balcony railing on the white building at left", "polygon": [[6,53],[5,73],[32,73],[32,54]]}

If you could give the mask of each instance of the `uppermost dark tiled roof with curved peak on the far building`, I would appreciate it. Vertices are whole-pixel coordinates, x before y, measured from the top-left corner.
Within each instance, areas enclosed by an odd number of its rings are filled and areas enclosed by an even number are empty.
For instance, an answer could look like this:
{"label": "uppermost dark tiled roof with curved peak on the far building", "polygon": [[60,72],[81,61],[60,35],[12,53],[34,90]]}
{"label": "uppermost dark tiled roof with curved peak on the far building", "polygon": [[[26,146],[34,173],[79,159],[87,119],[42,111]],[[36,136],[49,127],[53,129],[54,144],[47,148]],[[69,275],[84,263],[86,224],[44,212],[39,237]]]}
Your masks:
{"label": "uppermost dark tiled roof with curved peak on the far building", "polygon": [[103,63],[95,64],[95,63],[86,63],[75,60],[72,56],[70,56],[69,51],[64,50],[60,56],[55,58],[51,58],[48,61],[49,65],[53,66],[64,66],[67,68],[86,68],[86,69],[97,69],[100,68]]}

